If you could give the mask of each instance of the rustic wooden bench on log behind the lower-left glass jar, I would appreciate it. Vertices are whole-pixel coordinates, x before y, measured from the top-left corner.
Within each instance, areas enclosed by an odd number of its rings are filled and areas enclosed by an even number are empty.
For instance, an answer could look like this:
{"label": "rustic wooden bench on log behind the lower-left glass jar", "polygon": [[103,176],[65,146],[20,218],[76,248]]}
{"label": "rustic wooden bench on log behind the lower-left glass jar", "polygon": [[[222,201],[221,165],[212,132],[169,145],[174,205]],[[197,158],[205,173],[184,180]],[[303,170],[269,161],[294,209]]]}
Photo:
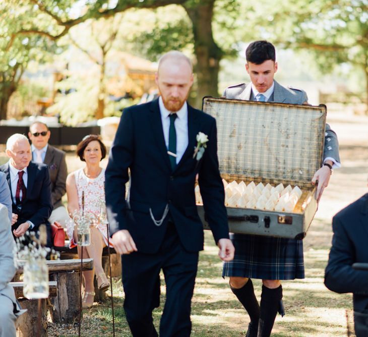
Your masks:
{"label": "rustic wooden bench on log behind the lower-left glass jar", "polygon": [[[40,326],[40,336],[47,336],[47,299],[41,299],[41,317],[38,314],[38,300],[28,300],[23,294],[23,282],[10,282],[13,287],[15,296],[19,300],[22,309],[27,312],[19,316],[17,319],[17,336],[33,337],[38,333]],[[57,283],[50,281],[48,283],[48,298],[57,296]]]}

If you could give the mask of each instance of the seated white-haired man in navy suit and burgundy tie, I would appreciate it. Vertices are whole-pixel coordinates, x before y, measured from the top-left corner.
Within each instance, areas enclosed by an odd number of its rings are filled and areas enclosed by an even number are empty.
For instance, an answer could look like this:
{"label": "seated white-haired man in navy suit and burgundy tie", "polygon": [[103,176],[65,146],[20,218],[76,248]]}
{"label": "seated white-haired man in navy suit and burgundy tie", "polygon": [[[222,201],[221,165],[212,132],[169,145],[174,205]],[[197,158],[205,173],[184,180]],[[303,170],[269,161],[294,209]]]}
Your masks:
{"label": "seated white-haired man in navy suit and burgundy tie", "polygon": [[7,176],[12,195],[15,238],[26,231],[37,232],[40,224],[47,229],[47,246],[51,246],[51,228],[48,218],[52,211],[51,183],[47,166],[31,162],[31,146],[26,136],[16,133],[7,141],[9,161],[0,166]]}

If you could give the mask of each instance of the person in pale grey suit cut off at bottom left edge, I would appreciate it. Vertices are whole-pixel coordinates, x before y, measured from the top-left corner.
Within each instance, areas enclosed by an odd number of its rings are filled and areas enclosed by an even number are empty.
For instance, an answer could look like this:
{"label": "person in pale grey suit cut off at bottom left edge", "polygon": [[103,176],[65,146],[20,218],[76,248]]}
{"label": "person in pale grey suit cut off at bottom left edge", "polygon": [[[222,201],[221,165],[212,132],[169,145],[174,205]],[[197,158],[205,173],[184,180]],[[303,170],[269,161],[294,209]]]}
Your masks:
{"label": "person in pale grey suit cut off at bottom left edge", "polygon": [[15,274],[15,267],[14,240],[7,215],[7,207],[0,203],[0,337],[15,337],[15,320],[24,310],[19,307],[13,287],[9,285]]}

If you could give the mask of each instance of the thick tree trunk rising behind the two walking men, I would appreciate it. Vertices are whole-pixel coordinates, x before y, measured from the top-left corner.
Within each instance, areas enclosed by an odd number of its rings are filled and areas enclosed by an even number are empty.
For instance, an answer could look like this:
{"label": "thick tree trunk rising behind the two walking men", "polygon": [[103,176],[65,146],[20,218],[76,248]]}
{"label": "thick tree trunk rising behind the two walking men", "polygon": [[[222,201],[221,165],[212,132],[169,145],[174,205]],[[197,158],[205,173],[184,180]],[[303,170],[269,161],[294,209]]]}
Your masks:
{"label": "thick tree trunk rising behind the two walking men", "polygon": [[197,6],[185,9],[192,20],[194,50],[197,63],[197,97],[194,106],[201,108],[203,96],[218,96],[218,73],[223,51],[216,44],[212,34],[213,5],[215,0],[198,2]]}

